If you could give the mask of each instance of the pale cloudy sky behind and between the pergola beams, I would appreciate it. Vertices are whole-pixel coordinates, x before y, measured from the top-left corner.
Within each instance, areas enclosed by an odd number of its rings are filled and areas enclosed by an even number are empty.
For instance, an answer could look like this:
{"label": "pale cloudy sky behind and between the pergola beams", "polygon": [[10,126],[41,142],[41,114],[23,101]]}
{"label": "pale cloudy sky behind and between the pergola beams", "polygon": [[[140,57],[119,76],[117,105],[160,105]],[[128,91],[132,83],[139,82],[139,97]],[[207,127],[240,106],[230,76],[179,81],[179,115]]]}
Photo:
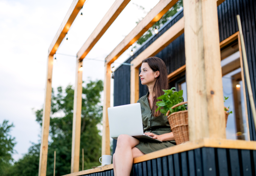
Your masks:
{"label": "pale cloudy sky behind and between the pergola beams", "polygon": [[[35,111],[44,104],[47,53],[73,0],[0,0],[0,124],[9,120],[15,127],[15,161],[31,142],[38,143],[41,128]],[[75,83],[76,53],[99,24],[114,0],[87,0],[63,40],[55,57],[52,88]],[[105,57],[125,38],[159,0],[131,0],[83,62],[83,81],[104,79]],[[145,9],[141,9],[143,6]],[[116,62],[129,57],[131,48]],[[68,54],[71,56],[64,56]],[[87,60],[96,59],[96,60]],[[114,63],[115,67],[119,64]],[[111,79],[113,106],[113,79]],[[102,98],[103,101],[103,98]]]}

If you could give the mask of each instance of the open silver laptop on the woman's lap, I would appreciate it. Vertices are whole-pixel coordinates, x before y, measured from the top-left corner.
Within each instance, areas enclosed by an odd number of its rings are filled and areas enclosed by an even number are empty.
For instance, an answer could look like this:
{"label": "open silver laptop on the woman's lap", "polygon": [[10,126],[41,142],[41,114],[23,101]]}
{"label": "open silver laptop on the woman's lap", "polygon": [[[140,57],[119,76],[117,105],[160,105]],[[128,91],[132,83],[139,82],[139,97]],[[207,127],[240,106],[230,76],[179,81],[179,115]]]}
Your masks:
{"label": "open silver laptop on the woman's lap", "polygon": [[140,103],[108,108],[108,122],[110,136],[113,139],[117,139],[120,134],[128,134],[137,139],[162,142],[143,133]]}

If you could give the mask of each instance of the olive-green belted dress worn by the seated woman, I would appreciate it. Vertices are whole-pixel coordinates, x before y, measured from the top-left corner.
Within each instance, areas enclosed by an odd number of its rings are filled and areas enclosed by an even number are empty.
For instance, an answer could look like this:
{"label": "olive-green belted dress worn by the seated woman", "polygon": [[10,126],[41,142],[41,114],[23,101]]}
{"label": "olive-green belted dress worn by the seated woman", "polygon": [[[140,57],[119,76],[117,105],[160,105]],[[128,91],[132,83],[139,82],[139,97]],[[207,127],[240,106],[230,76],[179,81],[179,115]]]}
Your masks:
{"label": "olive-green belted dress worn by the seated woman", "polygon": [[[152,116],[152,112],[148,103],[148,94],[149,92],[137,101],[140,103],[141,107],[144,133],[151,132],[156,135],[162,135],[172,132],[167,116],[164,116],[163,114],[158,117]],[[172,147],[174,145],[176,145],[175,141],[164,141],[160,143],[151,140],[140,139],[140,143],[135,147],[143,153],[147,154],[156,150],[161,150],[163,148]]]}

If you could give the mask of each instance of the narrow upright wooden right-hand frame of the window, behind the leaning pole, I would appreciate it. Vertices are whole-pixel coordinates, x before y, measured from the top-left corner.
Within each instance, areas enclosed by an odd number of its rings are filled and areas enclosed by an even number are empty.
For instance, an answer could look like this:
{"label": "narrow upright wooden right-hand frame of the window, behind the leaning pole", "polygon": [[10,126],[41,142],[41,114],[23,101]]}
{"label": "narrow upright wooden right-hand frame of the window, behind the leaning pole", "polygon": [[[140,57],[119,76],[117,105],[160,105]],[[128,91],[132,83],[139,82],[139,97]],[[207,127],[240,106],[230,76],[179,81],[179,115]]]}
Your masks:
{"label": "narrow upright wooden right-hand frame of the window, behind the leaning pole", "polygon": [[246,91],[245,91],[245,81],[244,81],[244,63],[242,57],[242,48],[240,35],[238,35],[238,45],[239,45],[239,54],[240,54],[240,65],[241,65],[241,76],[243,83],[243,94],[244,94],[244,110],[245,110],[245,119],[246,119],[246,128],[247,128],[247,140],[250,141],[250,132],[249,132],[249,122],[248,122],[248,112],[247,112],[247,101],[246,101]]}

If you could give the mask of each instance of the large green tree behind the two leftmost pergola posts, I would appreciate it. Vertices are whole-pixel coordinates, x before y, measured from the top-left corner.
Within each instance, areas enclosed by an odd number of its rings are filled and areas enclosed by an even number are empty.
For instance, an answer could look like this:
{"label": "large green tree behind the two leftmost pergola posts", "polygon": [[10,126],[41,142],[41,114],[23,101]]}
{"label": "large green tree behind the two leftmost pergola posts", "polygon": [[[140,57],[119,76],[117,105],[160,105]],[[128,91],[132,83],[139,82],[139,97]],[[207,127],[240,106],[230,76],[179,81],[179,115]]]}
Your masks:
{"label": "large green tree behind the two leftmost pergola posts", "polygon": [[[103,82],[90,81],[82,90],[81,111],[81,142],[80,142],[80,170],[82,161],[82,148],[84,148],[84,169],[98,166],[101,156],[101,136],[97,125],[102,120],[102,106],[100,93]],[[51,119],[49,128],[49,146],[47,158],[47,176],[53,175],[54,151],[56,150],[56,176],[70,173],[72,123],[73,123],[74,89],[68,85],[64,93],[62,87],[57,93],[52,91]],[[35,112],[36,121],[42,125],[43,109]],[[11,176],[37,176],[39,164],[40,144],[33,144],[29,152],[22,159],[15,162]]]}

